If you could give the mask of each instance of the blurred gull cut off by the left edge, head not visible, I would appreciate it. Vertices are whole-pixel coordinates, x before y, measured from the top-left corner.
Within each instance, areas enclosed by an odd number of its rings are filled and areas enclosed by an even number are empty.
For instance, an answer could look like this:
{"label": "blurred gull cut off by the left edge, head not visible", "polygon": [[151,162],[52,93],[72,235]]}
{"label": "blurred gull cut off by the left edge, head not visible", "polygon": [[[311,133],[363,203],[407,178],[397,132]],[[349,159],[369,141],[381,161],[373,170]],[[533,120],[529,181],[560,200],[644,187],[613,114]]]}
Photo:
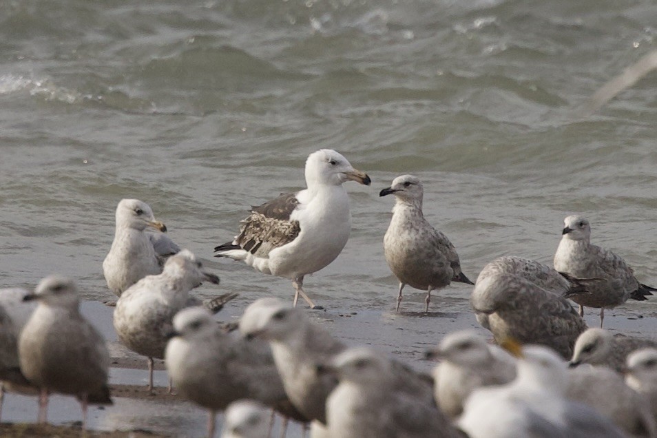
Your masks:
{"label": "blurred gull cut off by the left edge, head not visible", "polygon": [[30,386],[21,372],[18,340],[36,303],[25,302],[25,295],[30,295],[25,289],[0,289],[0,413],[6,385],[17,390]]}

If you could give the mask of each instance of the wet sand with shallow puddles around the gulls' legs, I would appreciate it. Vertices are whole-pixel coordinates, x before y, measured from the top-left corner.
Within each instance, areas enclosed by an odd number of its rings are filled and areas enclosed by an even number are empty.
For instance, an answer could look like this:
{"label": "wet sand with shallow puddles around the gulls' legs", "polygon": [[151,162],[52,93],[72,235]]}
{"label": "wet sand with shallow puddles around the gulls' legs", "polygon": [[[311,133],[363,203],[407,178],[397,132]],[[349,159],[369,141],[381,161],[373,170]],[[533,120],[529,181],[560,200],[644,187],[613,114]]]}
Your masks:
{"label": "wet sand with shallow puddles around the gulls' legs", "polygon": [[[392,309],[392,304],[390,306]],[[435,308],[438,307],[439,298],[436,297]],[[243,303],[229,304],[219,317],[222,320],[236,320],[243,308]],[[605,313],[605,327],[614,333],[657,339],[655,315],[642,316],[637,309],[640,310],[638,306],[632,306],[608,311]],[[112,355],[110,384],[114,405],[90,406],[88,428],[94,430],[91,436],[205,436],[207,413],[176,395],[167,394],[168,377],[162,361],[156,362],[156,394],[147,393],[146,359],[127,351],[117,342],[112,326],[114,308],[101,302],[84,302],[82,311],[105,335]],[[394,311],[353,309],[309,310],[308,313],[348,344],[373,346],[404,360],[420,371],[432,368],[434,364],[424,360],[424,351],[446,333],[462,328],[474,328],[488,339],[492,338],[488,331],[477,324],[472,313],[431,312],[424,315],[421,312],[404,311],[395,314]],[[590,326],[598,324],[598,316],[594,310],[587,312],[585,319]],[[61,427],[39,428],[31,424],[36,420],[36,397],[8,393],[2,420],[2,436],[79,436],[81,410],[73,397],[54,395],[50,401],[48,421]],[[221,423],[222,417],[219,415],[218,428]],[[278,424],[275,427],[278,428]],[[298,424],[293,424],[287,436],[300,437],[301,431]],[[129,435],[127,432],[134,434]],[[276,436],[275,434],[276,432],[273,436]]]}

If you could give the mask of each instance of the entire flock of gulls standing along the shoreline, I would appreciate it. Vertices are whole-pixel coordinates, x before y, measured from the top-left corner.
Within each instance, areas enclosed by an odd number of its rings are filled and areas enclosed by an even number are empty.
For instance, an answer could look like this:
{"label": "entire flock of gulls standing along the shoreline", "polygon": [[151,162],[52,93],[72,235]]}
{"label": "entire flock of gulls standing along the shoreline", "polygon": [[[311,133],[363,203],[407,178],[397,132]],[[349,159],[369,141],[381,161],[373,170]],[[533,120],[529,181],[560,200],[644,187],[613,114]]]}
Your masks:
{"label": "entire flock of gulls standing along the shoreline", "polygon": [[[472,283],[455,246],[424,218],[421,181],[403,175],[382,189],[379,196],[395,198],[383,244],[399,280],[397,311],[406,285],[426,292],[425,313],[432,291],[473,285],[474,316],[494,341],[474,331],[446,335],[426,352],[438,361],[428,375],[348,346],[297,306],[302,298],[321,309],[304,277],[333,262],[348,240],[343,183],[371,184],[330,149],[308,157],[305,179],[305,189],[253,207],[233,240],[214,249],[292,282],[291,303],[262,298],[238,324],[213,316],[235,294],[202,302],[191,293],[219,278],[163,234],[149,205],[124,199],[116,207],[102,267],[118,296],[118,338],[147,358],[145,390],[153,389],[153,359],[165,359],[169,392],[207,409],[209,437],[219,412],[225,438],[270,437],[275,413],[281,436],[287,421],[299,421],[304,435],[328,438],[657,437],[657,342],[601,328],[605,309],[657,289],[592,244],[588,220],[565,218],[554,268],[505,256]],[[89,404],[112,404],[110,354],[79,303],[75,282],[59,275],[34,292],[0,289],[0,413],[6,390],[38,397],[40,423],[51,394],[72,395],[84,430]],[[600,309],[600,328],[587,327],[585,307]]]}

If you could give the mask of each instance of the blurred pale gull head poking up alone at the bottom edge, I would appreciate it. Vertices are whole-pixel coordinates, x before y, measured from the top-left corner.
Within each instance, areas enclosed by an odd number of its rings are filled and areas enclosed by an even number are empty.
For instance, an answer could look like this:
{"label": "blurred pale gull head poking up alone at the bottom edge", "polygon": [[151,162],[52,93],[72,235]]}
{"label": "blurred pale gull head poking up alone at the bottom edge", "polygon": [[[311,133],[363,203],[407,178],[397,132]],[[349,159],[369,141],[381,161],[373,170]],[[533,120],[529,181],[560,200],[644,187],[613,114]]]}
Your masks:
{"label": "blurred pale gull head poking up alone at the bottom edge", "polygon": [[226,410],[221,438],[267,437],[270,413],[271,409],[258,401],[233,401]]}

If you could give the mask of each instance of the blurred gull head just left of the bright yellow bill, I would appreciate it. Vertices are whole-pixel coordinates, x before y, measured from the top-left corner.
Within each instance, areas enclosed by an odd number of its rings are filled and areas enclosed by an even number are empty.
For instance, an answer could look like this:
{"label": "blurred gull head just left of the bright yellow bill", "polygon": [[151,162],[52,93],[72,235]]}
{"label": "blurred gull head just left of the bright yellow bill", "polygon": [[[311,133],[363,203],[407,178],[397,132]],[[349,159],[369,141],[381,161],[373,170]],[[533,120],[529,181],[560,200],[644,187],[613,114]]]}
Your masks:
{"label": "blurred gull head just left of the bright yellow bill", "polygon": [[427,357],[436,357],[458,366],[488,366],[492,354],[488,344],[473,330],[462,330],[446,335],[437,347],[426,353]]}

